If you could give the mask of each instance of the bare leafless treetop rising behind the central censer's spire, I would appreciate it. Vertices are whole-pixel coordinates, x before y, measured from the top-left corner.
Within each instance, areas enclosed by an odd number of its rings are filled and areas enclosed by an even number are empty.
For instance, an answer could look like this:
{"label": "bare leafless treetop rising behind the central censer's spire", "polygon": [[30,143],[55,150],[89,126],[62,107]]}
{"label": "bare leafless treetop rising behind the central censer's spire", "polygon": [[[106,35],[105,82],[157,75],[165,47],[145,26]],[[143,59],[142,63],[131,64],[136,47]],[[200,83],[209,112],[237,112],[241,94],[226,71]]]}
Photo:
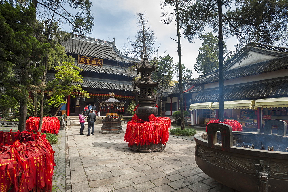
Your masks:
{"label": "bare leafless treetop rising behind the central censer's spire", "polygon": [[148,58],[153,58],[157,54],[160,45],[155,47],[156,37],[154,31],[151,30],[151,25],[148,24],[149,19],[146,18],[146,12],[137,13],[137,33],[135,39],[132,40],[130,37],[127,37],[128,45],[124,44],[122,49],[124,55],[135,58],[143,59],[145,54],[144,47],[147,47]]}

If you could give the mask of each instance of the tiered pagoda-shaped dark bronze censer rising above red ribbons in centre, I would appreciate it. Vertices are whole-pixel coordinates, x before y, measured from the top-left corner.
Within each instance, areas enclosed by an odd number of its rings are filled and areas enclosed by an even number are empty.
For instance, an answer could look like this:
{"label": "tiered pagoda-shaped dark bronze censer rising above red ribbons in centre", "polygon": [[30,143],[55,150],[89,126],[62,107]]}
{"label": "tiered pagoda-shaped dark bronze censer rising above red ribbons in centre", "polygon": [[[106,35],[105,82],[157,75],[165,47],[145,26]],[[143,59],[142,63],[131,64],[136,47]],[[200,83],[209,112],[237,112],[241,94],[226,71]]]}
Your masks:
{"label": "tiered pagoda-shaped dark bronze censer rising above red ribbons in centre", "polygon": [[144,121],[149,121],[149,115],[158,115],[158,107],[156,104],[156,101],[158,100],[158,94],[156,95],[154,93],[154,88],[156,86],[159,88],[160,84],[159,79],[157,82],[153,82],[151,79],[151,72],[155,70],[157,71],[157,66],[156,62],[154,62],[153,65],[149,64],[146,47],[141,66],[134,65],[134,69],[137,69],[137,71],[141,72],[140,81],[133,81],[132,83],[134,89],[136,89],[136,87],[140,88],[140,93],[138,96],[134,92],[137,105],[136,115]]}

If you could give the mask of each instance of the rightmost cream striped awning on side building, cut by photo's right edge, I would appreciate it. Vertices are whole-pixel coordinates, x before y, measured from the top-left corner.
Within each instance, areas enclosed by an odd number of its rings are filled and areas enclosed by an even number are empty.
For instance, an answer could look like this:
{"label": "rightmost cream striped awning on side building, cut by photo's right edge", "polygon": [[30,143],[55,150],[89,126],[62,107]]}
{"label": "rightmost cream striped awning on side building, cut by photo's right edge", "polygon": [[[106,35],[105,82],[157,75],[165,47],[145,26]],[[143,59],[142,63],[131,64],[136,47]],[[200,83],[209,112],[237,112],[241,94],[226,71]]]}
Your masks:
{"label": "rightmost cream striped awning on side building, cut by photo's right edge", "polygon": [[254,108],[257,107],[288,107],[288,97],[257,99]]}

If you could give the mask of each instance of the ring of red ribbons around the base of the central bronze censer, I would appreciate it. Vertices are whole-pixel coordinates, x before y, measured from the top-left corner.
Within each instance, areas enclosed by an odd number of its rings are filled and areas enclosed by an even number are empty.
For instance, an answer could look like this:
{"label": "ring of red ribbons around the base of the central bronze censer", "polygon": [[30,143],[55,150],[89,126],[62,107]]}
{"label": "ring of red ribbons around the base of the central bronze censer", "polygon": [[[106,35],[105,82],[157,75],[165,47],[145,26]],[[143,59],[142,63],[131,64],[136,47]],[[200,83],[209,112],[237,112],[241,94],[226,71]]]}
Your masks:
{"label": "ring of red ribbons around the base of the central bronze censer", "polygon": [[132,120],[127,123],[127,129],[124,141],[128,142],[128,146],[166,144],[169,139],[168,128],[171,127],[171,119],[169,117],[149,116],[149,121],[143,121],[135,114]]}

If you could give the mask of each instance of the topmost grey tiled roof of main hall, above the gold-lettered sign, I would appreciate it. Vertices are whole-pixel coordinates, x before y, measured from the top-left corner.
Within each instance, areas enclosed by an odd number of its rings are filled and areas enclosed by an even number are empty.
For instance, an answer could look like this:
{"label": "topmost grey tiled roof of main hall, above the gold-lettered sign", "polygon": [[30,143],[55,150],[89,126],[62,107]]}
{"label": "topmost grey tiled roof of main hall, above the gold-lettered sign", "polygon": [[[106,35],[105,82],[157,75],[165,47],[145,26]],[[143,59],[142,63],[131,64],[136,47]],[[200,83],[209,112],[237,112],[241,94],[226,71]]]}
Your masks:
{"label": "topmost grey tiled roof of main hall, above the gold-lettered sign", "polygon": [[95,40],[92,41],[90,39],[82,39],[77,37],[69,38],[67,41],[62,42],[62,45],[65,47],[65,51],[67,53],[124,63],[134,63],[134,59],[123,56],[113,45],[113,43],[111,45],[110,42],[104,43],[103,41],[102,43]]}

